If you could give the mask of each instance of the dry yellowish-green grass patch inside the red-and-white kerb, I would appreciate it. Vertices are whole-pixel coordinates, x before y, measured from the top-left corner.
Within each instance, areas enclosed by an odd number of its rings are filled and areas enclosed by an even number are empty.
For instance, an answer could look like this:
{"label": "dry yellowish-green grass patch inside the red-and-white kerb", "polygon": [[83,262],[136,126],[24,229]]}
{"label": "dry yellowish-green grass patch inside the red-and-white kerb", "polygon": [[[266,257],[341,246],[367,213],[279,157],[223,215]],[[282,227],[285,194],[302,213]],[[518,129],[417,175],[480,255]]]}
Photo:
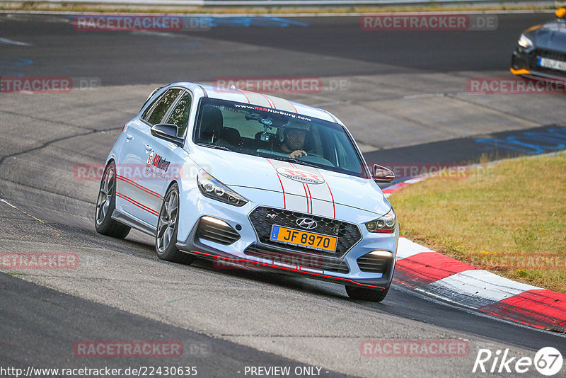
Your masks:
{"label": "dry yellowish-green grass patch inside the red-and-white kerb", "polygon": [[[499,275],[566,293],[563,263],[553,269],[533,264],[539,256],[566,258],[566,153],[472,168],[461,180],[429,179],[390,200],[403,236]],[[506,263],[515,256],[526,262]]]}

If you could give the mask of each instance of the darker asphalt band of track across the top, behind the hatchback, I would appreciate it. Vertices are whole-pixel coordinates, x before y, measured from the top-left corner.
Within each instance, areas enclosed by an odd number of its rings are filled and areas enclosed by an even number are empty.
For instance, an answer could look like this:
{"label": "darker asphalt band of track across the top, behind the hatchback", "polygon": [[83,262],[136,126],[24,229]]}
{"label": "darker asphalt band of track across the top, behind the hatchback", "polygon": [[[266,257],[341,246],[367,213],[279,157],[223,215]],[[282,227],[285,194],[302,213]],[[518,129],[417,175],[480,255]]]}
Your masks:
{"label": "darker asphalt band of track across the top, behind the hatchback", "polygon": [[[103,85],[212,81],[217,76],[503,71],[521,30],[552,18],[552,13],[499,16],[495,32],[401,33],[361,30],[358,17],[310,17],[289,18],[299,25],[233,23],[167,35],[79,32],[70,17],[5,15],[2,37],[33,43],[33,48],[3,45],[3,59],[33,63],[10,67],[4,61],[2,68],[4,76],[9,71],[27,75],[37,73],[40,64],[45,76],[97,76]],[[237,44],[253,48],[239,50],[233,47]]]}

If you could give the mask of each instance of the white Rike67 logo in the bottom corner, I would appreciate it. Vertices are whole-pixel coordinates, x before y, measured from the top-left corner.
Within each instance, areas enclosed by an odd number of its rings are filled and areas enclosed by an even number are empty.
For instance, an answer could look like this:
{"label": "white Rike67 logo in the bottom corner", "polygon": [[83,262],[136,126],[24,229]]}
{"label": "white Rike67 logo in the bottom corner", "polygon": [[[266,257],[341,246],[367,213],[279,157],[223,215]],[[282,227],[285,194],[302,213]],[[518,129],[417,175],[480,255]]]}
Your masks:
{"label": "white Rike67 logo in the bottom corner", "polygon": [[545,347],[531,357],[509,357],[509,349],[478,350],[472,372],[482,373],[526,373],[534,367],[539,373],[550,377],[562,370],[562,354],[558,349]]}

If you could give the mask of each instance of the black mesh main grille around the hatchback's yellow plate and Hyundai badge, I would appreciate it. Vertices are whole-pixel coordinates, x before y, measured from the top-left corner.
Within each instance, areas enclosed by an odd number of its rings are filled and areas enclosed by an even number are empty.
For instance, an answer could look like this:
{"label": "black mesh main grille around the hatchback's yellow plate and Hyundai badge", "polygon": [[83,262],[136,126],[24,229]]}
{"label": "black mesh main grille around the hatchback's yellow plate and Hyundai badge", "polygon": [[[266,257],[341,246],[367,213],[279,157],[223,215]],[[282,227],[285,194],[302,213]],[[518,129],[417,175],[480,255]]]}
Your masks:
{"label": "black mesh main grille around the hatchback's yellow plate and Hyundai badge", "polygon": [[[267,217],[267,215],[270,215]],[[338,237],[336,252],[332,251],[315,251],[311,248],[302,246],[289,246],[276,241],[270,241],[271,227],[274,224],[278,226],[289,227],[292,229],[301,229],[296,224],[296,219],[300,217],[308,217],[316,220],[317,227],[308,231],[318,234],[333,235]],[[362,234],[359,232],[357,225],[347,222],[341,222],[337,219],[329,219],[317,217],[313,214],[303,214],[301,212],[292,212],[289,210],[273,209],[270,207],[257,207],[250,214],[250,221],[253,224],[255,232],[262,244],[271,246],[284,246],[291,251],[314,253],[320,256],[342,257],[352,248],[358,241],[362,240]],[[306,230],[307,231],[307,230]]]}

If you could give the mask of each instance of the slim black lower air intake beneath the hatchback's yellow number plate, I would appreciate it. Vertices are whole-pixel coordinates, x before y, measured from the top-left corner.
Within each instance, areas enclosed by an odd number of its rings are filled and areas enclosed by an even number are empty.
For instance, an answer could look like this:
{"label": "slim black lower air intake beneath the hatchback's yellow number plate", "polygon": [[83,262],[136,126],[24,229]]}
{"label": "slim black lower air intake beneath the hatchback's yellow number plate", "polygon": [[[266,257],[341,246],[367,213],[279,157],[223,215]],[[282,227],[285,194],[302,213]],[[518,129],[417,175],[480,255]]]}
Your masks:
{"label": "slim black lower air intake beneath the hatchback's yellow number plate", "polygon": [[304,253],[293,253],[289,251],[281,251],[277,248],[263,246],[249,246],[244,251],[246,255],[274,260],[277,263],[286,265],[299,265],[303,268],[313,268],[318,270],[327,270],[335,273],[350,273],[348,265],[337,258],[326,258],[323,256],[307,255]]}

